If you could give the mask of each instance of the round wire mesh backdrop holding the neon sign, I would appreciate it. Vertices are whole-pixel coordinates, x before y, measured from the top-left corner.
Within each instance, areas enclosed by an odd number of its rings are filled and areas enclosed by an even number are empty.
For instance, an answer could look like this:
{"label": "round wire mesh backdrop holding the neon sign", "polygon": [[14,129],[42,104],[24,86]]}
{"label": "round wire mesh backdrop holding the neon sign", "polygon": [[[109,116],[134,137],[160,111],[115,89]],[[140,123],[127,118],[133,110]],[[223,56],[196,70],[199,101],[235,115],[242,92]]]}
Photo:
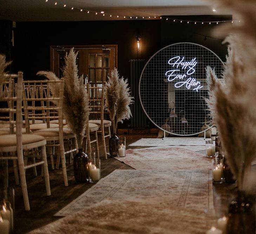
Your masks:
{"label": "round wire mesh backdrop holding the neon sign", "polygon": [[[147,61],[139,81],[139,98],[149,119],[174,135],[201,133],[210,121],[206,66],[221,77],[223,62],[210,49],[189,42],[166,46]],[[177,115],[170,117],[171,113]],[[175,115],[174,114],[174,115]]]}

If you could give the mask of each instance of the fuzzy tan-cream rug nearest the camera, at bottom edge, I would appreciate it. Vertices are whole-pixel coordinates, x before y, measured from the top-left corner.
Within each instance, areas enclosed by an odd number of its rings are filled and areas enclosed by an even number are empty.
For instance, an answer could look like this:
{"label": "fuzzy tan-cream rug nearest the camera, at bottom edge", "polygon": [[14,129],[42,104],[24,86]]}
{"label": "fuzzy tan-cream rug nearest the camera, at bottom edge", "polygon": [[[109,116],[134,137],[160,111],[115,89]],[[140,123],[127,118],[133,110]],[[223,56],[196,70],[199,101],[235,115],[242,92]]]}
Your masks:
{"label": "fuzzy tan-cream rug nearest the camera, at bottom edge", "polygon": [[30,234],[205,234],[206,223],[202,210],[165,203],[104,200]]}

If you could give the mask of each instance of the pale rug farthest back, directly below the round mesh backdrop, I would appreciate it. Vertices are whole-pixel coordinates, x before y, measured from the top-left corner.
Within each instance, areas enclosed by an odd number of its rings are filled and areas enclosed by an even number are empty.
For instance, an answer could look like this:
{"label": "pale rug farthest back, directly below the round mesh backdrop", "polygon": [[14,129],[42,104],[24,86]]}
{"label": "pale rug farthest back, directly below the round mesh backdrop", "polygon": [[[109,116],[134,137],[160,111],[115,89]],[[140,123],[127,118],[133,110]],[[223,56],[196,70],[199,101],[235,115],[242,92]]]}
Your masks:
{"label": "pale rug farthest back, directly below the round mesh backdrop", "polygon": [[205,139],[200,137],[167,137],[167,138],[142,138],[129,146],[204,146]]}

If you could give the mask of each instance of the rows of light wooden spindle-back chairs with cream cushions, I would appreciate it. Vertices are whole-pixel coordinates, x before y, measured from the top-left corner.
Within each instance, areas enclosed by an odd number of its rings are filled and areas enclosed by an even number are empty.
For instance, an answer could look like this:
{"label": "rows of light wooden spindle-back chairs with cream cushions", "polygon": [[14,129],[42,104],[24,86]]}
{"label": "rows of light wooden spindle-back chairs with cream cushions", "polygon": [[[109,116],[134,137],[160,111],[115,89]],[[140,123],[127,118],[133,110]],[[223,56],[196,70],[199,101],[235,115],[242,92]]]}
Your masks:
{"label": "rows of light wooden spindle-back chairs with cream cushions", "polygon": [[[9,128],[7,128],[8,131],[5,128],[0,129],[0,160],[5,162],[5,186],[8,186],[8,160],[13,160],[15,182],[18,184],[20,177],[25,210],[29,210],[26,169],[33,168],[34,175],[37,175],[36,166],[42,165],[46,194],[51,195],[46,147],[51,158],[52,169],[55,164],[53,155],[57,152],[56,168],[59,167],[61,161],[64,185],[68,186],[65,154],[70,154],[69,162],[71,162],[72,153],[76,151],[77,144],[75,135],[63,119],[64,79],[23,81],[22,72],[18,75],[8,75],[7,79],[0,90],[0,101],[7,103],[7,107],[1,108],[1,112],[9,113],[9,115],[1,117],[1,120],[6,118]],[[16,83],[14,79],[17,79]],[[58,88],[59,96],[52,96],[50,87]],[[104,87],[91,87],[87,84],[86,88],[90,94],[91,116],[97,117],[98,120],[90,120],[87,125],[85,145],[88,146],[88,150],[86,148],[85,150],[91,155],[91,144],[95,143],[96,153],[99,156],[97,134],[100,133],[104,156],[107,159],[105,139],[110,136],[111,122],[103,120]],[[105,134],[105,129],[107,129],[107,134]],[[94,133],[93,141],[90,139],[90,133]]]}

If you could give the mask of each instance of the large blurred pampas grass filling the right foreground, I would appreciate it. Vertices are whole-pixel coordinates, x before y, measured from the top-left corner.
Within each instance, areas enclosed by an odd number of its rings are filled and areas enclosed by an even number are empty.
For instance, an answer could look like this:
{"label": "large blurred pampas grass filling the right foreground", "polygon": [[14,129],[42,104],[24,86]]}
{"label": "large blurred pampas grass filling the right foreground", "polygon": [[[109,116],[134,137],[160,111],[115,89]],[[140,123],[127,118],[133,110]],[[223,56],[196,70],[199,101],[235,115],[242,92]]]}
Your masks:
{"label": "large blurred pampas grass filling the right foreground", "polygon": [[223,0],[221,4],[241,13],[247,25],[241,23],[228,30],[227,26],[217,29],[233,34],[224,41],[229,45],[222,75],[224,84],[218,82],[214,70],[206,69],[208,104],[238,189],[248,191],[245,182],[251,162],[256,159],[256,107],[253,104],[256,99],[256,2]]}

